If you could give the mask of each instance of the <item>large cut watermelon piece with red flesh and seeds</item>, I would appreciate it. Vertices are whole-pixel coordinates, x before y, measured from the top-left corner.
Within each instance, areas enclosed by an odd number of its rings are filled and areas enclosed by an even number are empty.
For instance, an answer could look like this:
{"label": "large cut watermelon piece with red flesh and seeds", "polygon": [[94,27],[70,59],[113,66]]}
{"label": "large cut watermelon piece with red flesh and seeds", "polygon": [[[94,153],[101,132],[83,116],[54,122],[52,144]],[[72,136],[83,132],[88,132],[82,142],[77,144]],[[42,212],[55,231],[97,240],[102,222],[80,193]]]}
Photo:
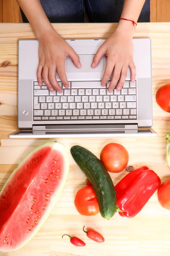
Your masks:
{"label": "large cut watermelon piece with red flesh and seeds", "polygon": [[65,147],[47,142],[17,166],[0,191],[0,251],[30,241],[57,203],[69,170]]}

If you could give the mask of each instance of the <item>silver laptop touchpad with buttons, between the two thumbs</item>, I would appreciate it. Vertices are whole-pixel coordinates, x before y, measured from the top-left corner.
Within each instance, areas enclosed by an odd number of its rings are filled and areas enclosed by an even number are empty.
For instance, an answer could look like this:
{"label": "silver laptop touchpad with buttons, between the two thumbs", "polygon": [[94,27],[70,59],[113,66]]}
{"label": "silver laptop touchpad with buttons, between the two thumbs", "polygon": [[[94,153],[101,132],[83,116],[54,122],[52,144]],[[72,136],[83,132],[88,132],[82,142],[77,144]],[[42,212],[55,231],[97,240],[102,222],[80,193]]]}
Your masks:
{"label": "silver laptop touchpad with buttons, between the two thumbs", "polygon": [[90,54],[79,55],[79,58],[80,58],[80,62],[82,64],[81,68],[75,67],[71,58],[69,58],[69,57],[66,58],[66,72],[70,72],[70,73],[102,72],[104,70],[104,61],[103,61],[104,57],[101,58],[98,66],[95,68],[91,67],[94,55],[90,55]]}

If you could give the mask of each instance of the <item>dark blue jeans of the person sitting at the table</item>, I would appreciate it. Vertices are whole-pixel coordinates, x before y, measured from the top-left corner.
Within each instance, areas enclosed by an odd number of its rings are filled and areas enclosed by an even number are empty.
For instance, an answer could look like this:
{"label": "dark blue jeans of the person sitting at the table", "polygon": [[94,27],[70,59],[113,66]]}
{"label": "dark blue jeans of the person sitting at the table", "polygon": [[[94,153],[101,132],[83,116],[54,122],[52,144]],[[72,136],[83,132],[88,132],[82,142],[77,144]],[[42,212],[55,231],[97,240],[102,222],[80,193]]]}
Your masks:
{"label": "dark blue jeans of the person sitting at the table", "polygon": [[[124,0],[40,0],[51,23],[83,22],[83,8],[90,22],[119,22]],[[28,22],[23,14],[23,22]],[[150,0],[146,0],[138,22],[150,22]]]}

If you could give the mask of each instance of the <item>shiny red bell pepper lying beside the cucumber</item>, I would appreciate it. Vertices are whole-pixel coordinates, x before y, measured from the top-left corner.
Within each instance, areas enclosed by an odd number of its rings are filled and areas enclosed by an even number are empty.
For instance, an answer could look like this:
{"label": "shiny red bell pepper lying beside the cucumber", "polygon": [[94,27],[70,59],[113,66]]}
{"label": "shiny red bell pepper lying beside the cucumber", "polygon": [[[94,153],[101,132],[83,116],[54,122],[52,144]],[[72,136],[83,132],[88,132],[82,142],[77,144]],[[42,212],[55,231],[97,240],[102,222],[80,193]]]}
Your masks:
{"label": "shiny red bell pepper lying beside the cucumber", "polygon": [[158,175],[147,166],[128,173],[115,186],[117,206],[122,211],[119,215],[127,218],[135,217],[160,184]]}

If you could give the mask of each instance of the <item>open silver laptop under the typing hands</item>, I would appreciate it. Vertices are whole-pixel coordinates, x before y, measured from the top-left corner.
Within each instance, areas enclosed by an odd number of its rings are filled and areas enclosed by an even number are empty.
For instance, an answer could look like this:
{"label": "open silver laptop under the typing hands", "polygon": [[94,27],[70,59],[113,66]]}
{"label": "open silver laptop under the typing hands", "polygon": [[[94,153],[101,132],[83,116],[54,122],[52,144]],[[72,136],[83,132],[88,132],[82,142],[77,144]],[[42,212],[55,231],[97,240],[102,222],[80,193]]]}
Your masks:
{"label": "open silver laptop under the typing hands", "polygon": [[136,80],[130,69],[121,91],[101,86],[107,57],[96,68],[91,63],[105,39],[66,40],[79,55],[82,67],[65,59],[69,88],[50,92],[37,82],[37,40],[20,40],[18,46],[18,127],[10,138],[149,137],[152,127],[152,79],[150,38],[133,39]]}

